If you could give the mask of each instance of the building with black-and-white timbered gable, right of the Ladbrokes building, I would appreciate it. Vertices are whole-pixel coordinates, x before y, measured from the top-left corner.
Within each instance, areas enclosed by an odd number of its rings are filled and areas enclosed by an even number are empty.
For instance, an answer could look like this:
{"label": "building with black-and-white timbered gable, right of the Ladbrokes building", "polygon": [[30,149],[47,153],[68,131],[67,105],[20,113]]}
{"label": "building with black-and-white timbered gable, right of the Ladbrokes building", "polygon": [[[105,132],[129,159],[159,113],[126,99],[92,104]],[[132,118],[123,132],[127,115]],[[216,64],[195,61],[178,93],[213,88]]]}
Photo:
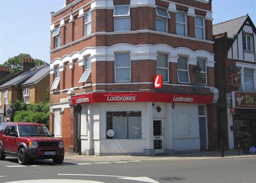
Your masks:
{"label": "building with black-and-white timbered gable, right of the Ladbrokes building", "polygon": [[256,29],[248,15],[213,25],[218,134],[226,149],[256,145]]}

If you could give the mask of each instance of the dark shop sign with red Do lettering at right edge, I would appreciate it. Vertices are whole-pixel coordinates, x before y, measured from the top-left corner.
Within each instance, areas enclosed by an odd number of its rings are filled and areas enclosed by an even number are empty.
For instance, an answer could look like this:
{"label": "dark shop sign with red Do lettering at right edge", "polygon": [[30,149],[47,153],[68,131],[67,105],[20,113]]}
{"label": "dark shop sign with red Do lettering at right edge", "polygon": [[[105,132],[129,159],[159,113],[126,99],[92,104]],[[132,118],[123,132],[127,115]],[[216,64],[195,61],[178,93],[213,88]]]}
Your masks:
{"label": "dark shop sign with red Do lettering at right edge", "polygon": [[256,108],[256,93],[232,92],[233,108]]}

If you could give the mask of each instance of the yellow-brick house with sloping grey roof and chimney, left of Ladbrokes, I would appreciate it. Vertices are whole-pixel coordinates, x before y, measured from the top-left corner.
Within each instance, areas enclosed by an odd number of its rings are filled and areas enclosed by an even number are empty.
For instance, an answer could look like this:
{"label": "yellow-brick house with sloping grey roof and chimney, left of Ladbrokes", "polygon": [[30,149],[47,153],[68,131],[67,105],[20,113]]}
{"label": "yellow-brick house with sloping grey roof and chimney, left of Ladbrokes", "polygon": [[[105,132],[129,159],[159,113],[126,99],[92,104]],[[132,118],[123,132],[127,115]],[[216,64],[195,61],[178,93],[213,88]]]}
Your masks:
{"label": "yellow-brick house with sloping grey roof and chimney, left of Ladbrokes", "polygon": [[50,85],[50,65],[34,66],[33,59],[24,58],[20,72],[11,73],[0,80],[0,107],[2,109],[0,109],[0,118],[2,122],[12,117],[9,105],[15,100],[30,104],[46,102]]}

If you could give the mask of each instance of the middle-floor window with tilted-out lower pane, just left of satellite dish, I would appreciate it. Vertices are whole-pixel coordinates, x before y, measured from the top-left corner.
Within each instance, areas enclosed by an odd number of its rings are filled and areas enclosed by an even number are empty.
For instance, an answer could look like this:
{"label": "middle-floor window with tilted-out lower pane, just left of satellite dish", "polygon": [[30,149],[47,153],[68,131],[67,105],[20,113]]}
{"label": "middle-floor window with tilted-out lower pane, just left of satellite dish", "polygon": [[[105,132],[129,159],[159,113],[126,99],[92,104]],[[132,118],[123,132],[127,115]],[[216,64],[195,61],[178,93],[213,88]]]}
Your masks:
{"label": "middle-floor window with tilted-out lower pane, just left of satellite dish", "polygon": [[178,58],[178,81],[179,83],[190,83],[189,70],[188,70],[188,58]]}

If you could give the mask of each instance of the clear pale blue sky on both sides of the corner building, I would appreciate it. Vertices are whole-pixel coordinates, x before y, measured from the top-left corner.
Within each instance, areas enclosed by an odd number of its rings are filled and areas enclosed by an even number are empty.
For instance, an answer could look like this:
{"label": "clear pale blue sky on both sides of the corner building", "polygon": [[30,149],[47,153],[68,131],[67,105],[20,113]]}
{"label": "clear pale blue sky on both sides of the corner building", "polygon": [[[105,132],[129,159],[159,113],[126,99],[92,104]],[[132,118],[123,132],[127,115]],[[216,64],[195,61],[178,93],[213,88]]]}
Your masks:
{"label": "clear pale blue sky on both sides of the corner building", "polygon": [[[0,64],[21,53],[50,62],[50,12],[64,2],[0,0]],[[256,0],[213,0],[212,11],[214,24],[249,14],[256,26]]]}

